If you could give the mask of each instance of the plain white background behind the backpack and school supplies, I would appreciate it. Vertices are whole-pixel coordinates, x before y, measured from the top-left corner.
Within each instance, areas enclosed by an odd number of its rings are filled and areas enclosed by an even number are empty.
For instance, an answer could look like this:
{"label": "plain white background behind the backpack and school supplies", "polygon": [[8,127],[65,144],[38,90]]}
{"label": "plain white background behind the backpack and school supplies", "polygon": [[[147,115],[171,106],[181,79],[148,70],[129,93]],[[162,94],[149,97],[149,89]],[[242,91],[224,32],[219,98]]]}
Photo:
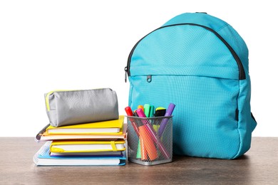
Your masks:
{"label": "plain white background behind the backpack and school supplies", "polygon": [[0,136],[34,137],[48,124],[43,94],[112,88],[128,105],[124,67],[134,44],[170,18],[205,11],[249,48],[253,136],[278,136],[275,1],[0,1]]}

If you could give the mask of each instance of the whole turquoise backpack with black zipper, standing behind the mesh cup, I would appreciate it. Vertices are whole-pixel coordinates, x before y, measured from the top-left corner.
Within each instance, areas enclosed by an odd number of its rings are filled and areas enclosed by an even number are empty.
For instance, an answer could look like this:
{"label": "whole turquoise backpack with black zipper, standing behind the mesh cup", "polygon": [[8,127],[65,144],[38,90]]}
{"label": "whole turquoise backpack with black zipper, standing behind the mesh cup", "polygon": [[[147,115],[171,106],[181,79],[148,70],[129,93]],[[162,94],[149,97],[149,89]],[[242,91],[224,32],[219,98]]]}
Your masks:
{"label": "whole turquoise backpack with black zipper, standing behind the mesh cup", "polygon": [[257,122],[248,49],[225,21],[201,13],[170,19],[135,44],[125,74],[133,110],[176,105],[174,154],[235,159],[249,149]]}

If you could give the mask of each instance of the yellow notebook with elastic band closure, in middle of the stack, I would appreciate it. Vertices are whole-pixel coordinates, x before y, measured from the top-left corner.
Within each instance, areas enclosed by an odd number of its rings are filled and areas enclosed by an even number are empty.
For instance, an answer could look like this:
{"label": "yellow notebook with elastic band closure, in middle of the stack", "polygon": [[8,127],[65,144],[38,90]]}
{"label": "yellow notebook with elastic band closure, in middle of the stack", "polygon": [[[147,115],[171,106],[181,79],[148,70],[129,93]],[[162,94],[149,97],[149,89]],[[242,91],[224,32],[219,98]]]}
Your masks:
{"label": "yellow notebook with elastic band closure, in middle of the stack", "polygon": [[124,151],[125,141],[53,141],[50,152],[105,152]]}

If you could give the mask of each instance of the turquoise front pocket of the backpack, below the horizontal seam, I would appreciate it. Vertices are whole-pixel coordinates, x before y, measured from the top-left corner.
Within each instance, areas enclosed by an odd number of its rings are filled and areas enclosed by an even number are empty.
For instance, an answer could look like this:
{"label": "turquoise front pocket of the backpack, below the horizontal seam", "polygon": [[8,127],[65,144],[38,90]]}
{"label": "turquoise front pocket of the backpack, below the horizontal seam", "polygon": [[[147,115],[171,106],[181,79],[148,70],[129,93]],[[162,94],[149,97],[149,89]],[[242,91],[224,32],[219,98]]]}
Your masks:
{"label": "turquoise front pocket of the backpack, below the horizontal seam", "polygon": [[175,154],[231,159],[240,148],[237,130],[239,81],[192,75],[130,77],[130,106],[175,103]]}

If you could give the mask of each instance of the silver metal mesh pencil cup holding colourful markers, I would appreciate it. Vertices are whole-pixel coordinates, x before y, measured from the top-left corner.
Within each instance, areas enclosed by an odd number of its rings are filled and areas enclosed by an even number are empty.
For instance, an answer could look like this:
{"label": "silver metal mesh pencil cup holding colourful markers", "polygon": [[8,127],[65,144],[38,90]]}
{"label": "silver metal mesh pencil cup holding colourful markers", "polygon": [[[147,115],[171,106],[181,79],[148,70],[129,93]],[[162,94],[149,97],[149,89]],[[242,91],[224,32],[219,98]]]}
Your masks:
{"label": "silver metal mesh pencil cup holding colourful markers", "polygon": [[155,165],[172,162],[173,119],[170,117],[127,117],[128,160]]}

